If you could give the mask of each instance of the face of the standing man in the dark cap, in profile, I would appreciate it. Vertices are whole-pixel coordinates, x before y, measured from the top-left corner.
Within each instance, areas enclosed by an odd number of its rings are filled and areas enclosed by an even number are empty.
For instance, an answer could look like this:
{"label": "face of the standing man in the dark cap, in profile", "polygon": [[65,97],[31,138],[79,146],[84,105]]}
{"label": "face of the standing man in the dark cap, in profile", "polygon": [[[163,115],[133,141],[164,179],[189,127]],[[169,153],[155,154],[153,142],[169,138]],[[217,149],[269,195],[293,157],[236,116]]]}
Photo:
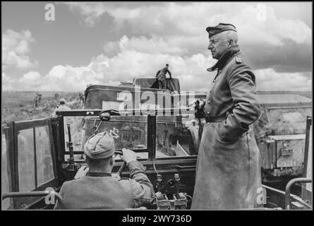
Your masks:
{"label": "face of the standing man in the dark cap, in profile", "polygon": [[212,52],[212,58],[219,59],[229,47],[229,40],[220,33],[210,37],[208,49]]}

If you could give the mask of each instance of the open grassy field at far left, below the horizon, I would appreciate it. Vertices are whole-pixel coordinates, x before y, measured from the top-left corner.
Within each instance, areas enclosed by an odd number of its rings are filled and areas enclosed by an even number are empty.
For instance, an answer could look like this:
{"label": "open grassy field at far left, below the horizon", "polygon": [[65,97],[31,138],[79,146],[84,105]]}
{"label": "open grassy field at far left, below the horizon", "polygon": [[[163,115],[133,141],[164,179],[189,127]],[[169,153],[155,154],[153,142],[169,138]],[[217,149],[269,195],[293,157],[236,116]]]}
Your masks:
{"label": "open grassy field at far left, below the horizon", "polygon": [[[39,107],[35,107],[36,93],[42,94]],[[23,121],[52,117],[52,113],[59,104],[54,94],[59,94],[59,99],[64,98],[71,109],[83,108],[78,93],[67,92],[37,92],[37,91],[2,91],[1,93],[1,121]]]}

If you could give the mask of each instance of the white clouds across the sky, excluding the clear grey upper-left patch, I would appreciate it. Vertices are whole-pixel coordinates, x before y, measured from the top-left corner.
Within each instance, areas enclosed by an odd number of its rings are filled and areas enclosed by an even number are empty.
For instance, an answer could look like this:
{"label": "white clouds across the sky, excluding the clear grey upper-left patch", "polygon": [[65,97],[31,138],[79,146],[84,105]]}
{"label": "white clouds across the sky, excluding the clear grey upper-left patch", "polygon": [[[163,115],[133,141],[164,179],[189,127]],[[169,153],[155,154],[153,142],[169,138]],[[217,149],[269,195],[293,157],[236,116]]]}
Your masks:
{"label": "white clouds across the sky, excluding the clear grey upper-left patch", "polygon": [[[114,23],[111,32],[121,33],[119,40],[108,42],[104,37],[103,52],[79,67],[64,62],[46,75],[32,70],[16,85],[6,74],[4,89],[84,90],[89,83],[115,85],[132,81],[135,76],[152,77],[169,63],[173,77],[180,79],[181,90],[207,90],[214,74],[206,69],[215,61],[207,51],[205,28],[233,23],[240,47],[256,71],[258,90],[310,90],[311,28],[300,18],[279,18],[271,4],[265,6],[266,20],[260,20],[260,8],[255,3],[70,3],[70,10],[90,29],[102,23],[105,15],[111,16]],[[280,10],[293,8],[282,4]],[[3,37],[9,34],[16,41],[3,42],[3,56],[6,49],[3,65],[34,66],[28,57],[29,45],[34,42],[30,31],[7,30]],[[22,40],[24,49],[18,47]],[[8,52],[16,53],[24,64],[21,60],[13,64],[12,58],[16,58],[8,57]]]}

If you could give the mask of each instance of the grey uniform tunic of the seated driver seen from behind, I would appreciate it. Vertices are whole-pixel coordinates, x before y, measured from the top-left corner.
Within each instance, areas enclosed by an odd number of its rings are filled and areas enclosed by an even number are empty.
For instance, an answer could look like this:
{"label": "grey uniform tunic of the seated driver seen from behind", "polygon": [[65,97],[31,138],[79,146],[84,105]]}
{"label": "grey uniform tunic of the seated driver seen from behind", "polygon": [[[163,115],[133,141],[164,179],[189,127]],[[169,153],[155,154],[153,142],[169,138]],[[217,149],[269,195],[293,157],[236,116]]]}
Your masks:
{"label": "grey uniform tunic of the seated driver seen from behind", "polygon": [[65,182],[60,191],[61,209],[125,209],[138,208],[154,195],[145,167],[138,161],[128,163],[132,179],[116,179],[111,174],[88,172],[86,177]]}

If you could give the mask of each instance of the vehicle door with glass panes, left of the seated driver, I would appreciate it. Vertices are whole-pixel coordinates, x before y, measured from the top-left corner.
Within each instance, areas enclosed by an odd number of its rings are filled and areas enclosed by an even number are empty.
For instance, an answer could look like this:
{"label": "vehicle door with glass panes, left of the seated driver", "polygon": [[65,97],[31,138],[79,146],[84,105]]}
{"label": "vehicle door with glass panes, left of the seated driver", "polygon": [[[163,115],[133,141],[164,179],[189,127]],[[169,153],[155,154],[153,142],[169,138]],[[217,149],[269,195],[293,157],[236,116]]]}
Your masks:
{"label": "vehicle door with glass panes, left of the seated driver", "polygon": [[[56,189],[56,155],[52,119],[10,122],[3,127],[4,164],[1,181],[4,192],[30,192]],[[6,208],[44,208],[44,197],[7,198]],[[40,206],[38,206],[40,205]]]}

